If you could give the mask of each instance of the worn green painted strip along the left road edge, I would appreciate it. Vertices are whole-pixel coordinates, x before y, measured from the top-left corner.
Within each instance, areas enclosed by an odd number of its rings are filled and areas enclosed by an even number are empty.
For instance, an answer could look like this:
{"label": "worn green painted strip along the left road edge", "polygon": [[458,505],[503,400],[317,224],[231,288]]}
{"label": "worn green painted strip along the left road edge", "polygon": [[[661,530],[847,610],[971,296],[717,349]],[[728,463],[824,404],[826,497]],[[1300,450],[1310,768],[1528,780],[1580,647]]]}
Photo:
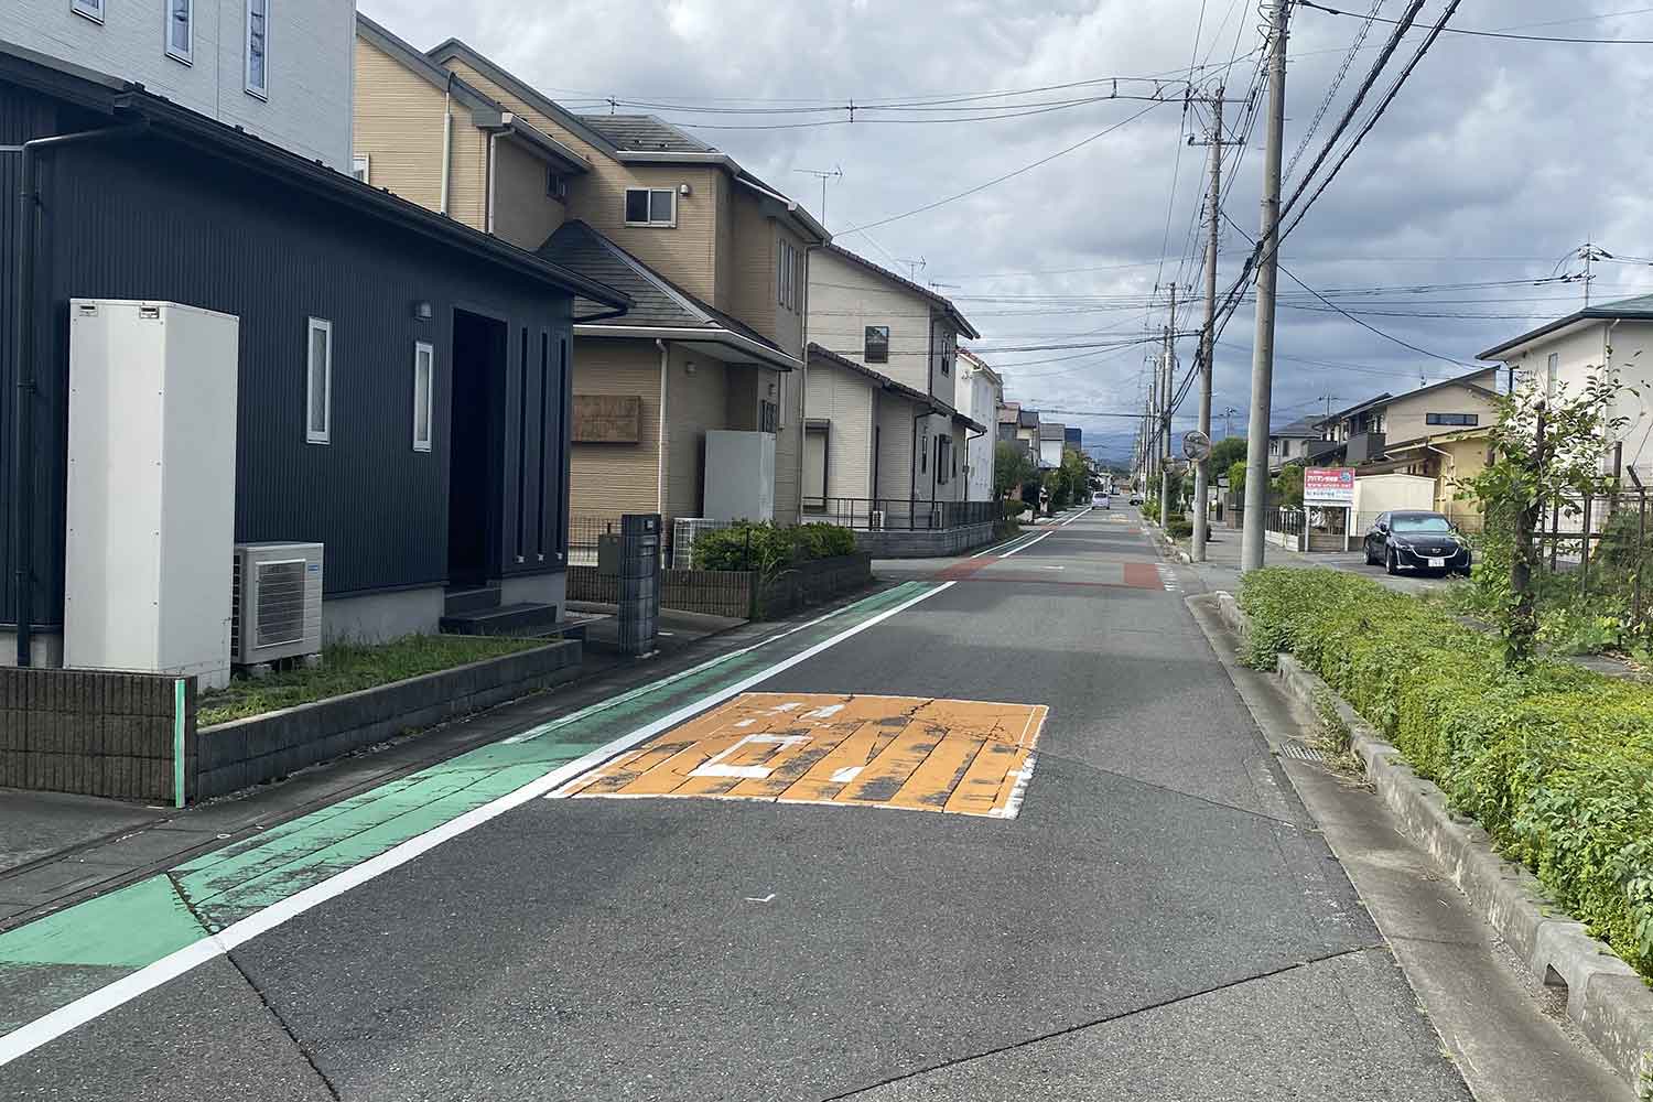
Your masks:
{"label": "worn green painted strip along the left road edge", "polygon": [[0,933],[0,1062],[21,1026],[937,588],[898,585]]}

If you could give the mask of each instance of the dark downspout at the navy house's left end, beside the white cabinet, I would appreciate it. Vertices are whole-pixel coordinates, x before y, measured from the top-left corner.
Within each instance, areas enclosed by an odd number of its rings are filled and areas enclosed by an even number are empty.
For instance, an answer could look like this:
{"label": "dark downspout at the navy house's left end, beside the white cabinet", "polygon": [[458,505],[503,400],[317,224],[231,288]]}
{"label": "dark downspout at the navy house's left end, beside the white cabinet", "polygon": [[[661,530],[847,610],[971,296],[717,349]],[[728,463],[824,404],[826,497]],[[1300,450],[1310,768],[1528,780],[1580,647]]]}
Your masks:
{"label": "dark downspout at the navy house's left end, beside the white cabinet", "polygon": [[0,152],[18,154],[18,193],[17,193],[17,322],[12,340],[12,370],[15,372],[17,395],[12,413],[12,585],[17,600],[17,664],[30,664],[30,603],[33,598],[33,494],[30,492],[30,476],[35,454],[35,246],[40,238],[40,193],[35,185],[35,154],[73,145],[78,142],[94,142],[104,137],[141,134],[149,129],[147,119],[126,126],[106,126],[96,131],[78,131],[74,134],[50,134],[35,137],[21,145],[0,145]]}

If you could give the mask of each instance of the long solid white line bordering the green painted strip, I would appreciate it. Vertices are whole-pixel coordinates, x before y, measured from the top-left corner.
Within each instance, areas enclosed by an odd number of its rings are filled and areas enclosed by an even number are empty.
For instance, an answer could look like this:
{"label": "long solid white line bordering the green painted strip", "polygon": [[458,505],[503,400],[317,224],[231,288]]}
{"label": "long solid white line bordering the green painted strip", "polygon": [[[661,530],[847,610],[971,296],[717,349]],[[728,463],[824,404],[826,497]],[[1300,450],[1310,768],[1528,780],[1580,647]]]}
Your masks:
{"label": "long solid white line bordering the green painted strip", "polygon": [[[683,720],[698,715],[699,712],[704,712],[712,705],[722,704],[729,697],[737,696],[744,689],[749,689],[750,686],[755,686],[760,681],[785,672],[793,666],[798,666],[800,663],[807,663],[822,651],[826,651],[843,643],[845,639],[856,636],[866,631],[868,628],[889,620],[896,613],[906,611],[907,608],[912,608],[919,601],[929,600],[931,596],[936,596],[937,593],[952,588],[954,585],[955,585],[954,582],[942,582],[934,590],[926,590],[924,593],[919,593],[909,601],[903,601],[894,608],[888,608],[878,613],[876,616],[869,616],[868,620],[863,620],[853,628],[846,628],[845,631],[840,631],[838,634],[828,639],[822,639],[820,643],[803,651],[798,651],[788,659],[779,661],[774,666],[769,666],[767,669],[760,669],[755,674],[742,677],[741,681],[724,689],[719,689],[717,692],[704,696],[699,701],[694,701],[693,704],[684,704],[678,710],[663,715],[651,724],[645,724],[636,730],[620,735],[613,742],[608,742],[607,745],[602,745],[592,750],[590,753],[575,758],[574,762],[569,762],[567,765],[560,765],[552,772],[545,773],[544,777],[531,780],[516,791],[509,791],[496,800],[481,805],[479,808],[471,808],[469,811],[460,815],[458,818],[433,826],[423,834],[417,834],[407,839],[405,843],[392,846],[382,854],[369,857],[367,861],[350,869],[345,869],[344,872],[337,872],[319,884],[312,884],[311,887],[306,887],[304,891],[289,895],[288,899],[283,899],[278,904],[271,904],[269,907],[264,907],[263,910],[258,910],[248,915],[246,919],[241,919],[240,922],[226,925],[218,933],[208,933],[202,940],[185,945],[183,948],[167,957],[162,957],[152,965],[145,965],[137,971],[116,980],[114,983],[101,986],[89,995],[83,995],[81,998],[74,1000],[73,1003],[68,1003],[66,1006],[60,1006],[50,1014],[36,1018],[35,1021],[13,1029],[12,1033],[0,1038],[0,1067],[10,1064],[12,1061],[21,1056],[26,1056],[28,1052],[33,1052],[41,1044],[55,1041],[61,1038],[64,1033],[78,1026],[83,1026],[88,1021],[93,1021],[94,1018],[107,1014],[111,1009],[132,1001],[134,998],[144,995],[145,991],[154,991],[162,983],[175,980],[177,976],[182,976],[192,968],[197,968],[198,965],[203,965],[208,960],[215,960],[217,957],[228,953],[238,945],[245,945],[260,933],[273,930],[278,925],[283,925],[284,922],[289,922],[299,917],[301,914],[314,910],[321,904],[345,894],[352,887],[367,884],[369,881],[377,879],[385,872],[390,872],[392,869],[407,864],[413,857],[418,857],[420,854],[435,849],[436,846],[451,838],[458,838],[460,834],[473,831],[478,826],[494,818],[499,818],[506,811],[522,806],[529,800],[536,800],[539,796],[554,791],[564,781],[572,780],[574,777],[579,777],[580,773],[585,773],[602,765],[617,753],[630,750],[636,743],[646,739],[653,739],[660,732],[676,727]],[[825,620],[825,616],[822,616],[822,620]],[[802,629],[805,626],[808,625],[800,625],[795,629]]]}

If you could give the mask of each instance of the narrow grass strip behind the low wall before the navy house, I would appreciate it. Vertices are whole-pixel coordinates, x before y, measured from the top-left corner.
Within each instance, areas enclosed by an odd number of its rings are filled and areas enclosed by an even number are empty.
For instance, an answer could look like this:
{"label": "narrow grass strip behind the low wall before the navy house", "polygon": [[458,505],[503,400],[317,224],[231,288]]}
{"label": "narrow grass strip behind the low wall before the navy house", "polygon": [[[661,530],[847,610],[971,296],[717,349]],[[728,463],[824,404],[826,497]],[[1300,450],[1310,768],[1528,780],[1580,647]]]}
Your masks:
{"label": "narrow grass strip behind the low wall before the navy house", "polygon": [[326,701],[544,644],[544,639],[469,634],[407,634],[374,644],[332,643],[322,649],[319,669],[299,666],[263,679],[236,674],[226,689],[203,692],[195,722],[210,727],[231,719],[263,715],[294,704]]}

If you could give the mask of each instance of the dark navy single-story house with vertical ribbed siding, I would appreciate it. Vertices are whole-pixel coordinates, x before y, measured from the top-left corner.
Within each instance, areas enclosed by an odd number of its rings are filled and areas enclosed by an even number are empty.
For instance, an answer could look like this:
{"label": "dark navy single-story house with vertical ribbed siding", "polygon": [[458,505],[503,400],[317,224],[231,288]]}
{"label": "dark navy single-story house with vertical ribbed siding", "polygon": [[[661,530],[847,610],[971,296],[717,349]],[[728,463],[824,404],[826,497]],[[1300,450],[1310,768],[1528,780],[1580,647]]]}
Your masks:
{"label": "dark navy single-story house with vertical ribbed siding", "polygon": [[[15,149],[89,131],[102,132]],[[0,661],[18,656],[20,621],[35,663],[61,653],[68,314],[86,297],[240,319],[235,539],[326,545],[329,636],[435,629],[448,587],[562,605],[572,301],[623,311],[623,294],[136,84],[3,45],[0,145],[13,147],[0,152]],[[15,198],[25,162],[31,210]]]}

